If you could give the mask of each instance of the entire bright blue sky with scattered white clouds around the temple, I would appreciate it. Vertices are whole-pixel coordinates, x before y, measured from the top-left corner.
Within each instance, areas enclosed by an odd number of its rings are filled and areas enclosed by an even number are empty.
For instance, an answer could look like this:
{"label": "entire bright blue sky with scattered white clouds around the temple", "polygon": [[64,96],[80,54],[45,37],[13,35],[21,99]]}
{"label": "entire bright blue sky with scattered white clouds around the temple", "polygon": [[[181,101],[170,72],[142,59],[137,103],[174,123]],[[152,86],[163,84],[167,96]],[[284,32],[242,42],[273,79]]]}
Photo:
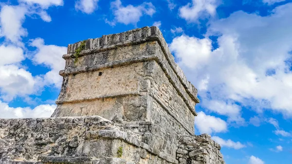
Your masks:
{"label": "entire bright blue sky with scattered white clouds around the temple", "polygon": [[0,0],[0,118],[49,117],[67,45],[159,26],[227,164],[292,162],[292,0]]}

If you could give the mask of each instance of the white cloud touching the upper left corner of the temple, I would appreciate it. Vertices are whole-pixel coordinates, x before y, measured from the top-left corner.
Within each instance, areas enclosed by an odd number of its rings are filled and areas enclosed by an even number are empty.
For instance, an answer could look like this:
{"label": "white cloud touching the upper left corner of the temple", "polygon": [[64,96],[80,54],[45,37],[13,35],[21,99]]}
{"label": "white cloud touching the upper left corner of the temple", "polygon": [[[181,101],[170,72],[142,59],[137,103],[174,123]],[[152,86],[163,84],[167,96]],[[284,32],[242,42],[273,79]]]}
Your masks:
{"label": "white cloud touching the upper left corner of the temple", "polygon": [[67,47],[45,45],[42,38],[32,40],[31,46],[37,47],[33,60],[37,64],[44,64],[51,69],[50,72],[45,74],[45,83],[60,87],[62,77],[59,75],[59,71],[65,68],[65,60],[62,59],[62,55],[67,53]]}

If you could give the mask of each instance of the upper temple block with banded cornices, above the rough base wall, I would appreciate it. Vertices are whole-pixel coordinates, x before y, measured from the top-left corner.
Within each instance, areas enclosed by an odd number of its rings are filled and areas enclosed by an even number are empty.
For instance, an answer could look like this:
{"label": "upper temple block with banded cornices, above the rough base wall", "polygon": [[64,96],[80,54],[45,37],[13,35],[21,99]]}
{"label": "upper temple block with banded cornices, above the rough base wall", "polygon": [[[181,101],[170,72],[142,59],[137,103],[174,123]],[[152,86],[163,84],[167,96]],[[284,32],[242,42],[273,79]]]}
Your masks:
{"label": "upper temple block with banded cornices, above the rough base wall", "polygon": [[53,117],[100,115],[118,122],[152,121],[153,108],[163,108],[180,127],[194,133],[197,90],[174,62],[156,27],[86,42],[76,63],[73,53],[80,42],[69,45],[69,54],[63,56],[64,80]]}

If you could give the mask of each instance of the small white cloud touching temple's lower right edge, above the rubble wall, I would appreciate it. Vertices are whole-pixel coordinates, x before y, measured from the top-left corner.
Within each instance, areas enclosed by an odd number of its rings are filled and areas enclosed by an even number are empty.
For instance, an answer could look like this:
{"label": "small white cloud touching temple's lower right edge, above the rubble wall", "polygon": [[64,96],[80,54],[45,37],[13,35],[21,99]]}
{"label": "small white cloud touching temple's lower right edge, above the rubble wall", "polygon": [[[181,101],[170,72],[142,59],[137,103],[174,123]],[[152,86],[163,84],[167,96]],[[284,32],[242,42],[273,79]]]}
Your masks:
{"label": "small white cloud touching temple's lower right edge, above the rubble wall", "polygon": [[200,111],[195,119],[195,127],[200,133],[212,134],[214,132],[227,131],[227,123],[220,118],[206,115]]}

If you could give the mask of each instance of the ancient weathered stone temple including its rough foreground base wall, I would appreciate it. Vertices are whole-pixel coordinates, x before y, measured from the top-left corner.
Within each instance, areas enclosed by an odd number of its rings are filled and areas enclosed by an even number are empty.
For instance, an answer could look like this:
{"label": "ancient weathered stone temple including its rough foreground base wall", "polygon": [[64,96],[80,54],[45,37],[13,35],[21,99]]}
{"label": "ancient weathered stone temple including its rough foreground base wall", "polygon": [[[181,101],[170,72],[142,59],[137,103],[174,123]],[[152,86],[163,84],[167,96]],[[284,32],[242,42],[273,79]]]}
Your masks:
{"label": "ancient weathered stone temple including its rough foreground base wall", "polygon": [[0,164],[225,164],[157,27],[68,46],[51,118],[0,119]]}

